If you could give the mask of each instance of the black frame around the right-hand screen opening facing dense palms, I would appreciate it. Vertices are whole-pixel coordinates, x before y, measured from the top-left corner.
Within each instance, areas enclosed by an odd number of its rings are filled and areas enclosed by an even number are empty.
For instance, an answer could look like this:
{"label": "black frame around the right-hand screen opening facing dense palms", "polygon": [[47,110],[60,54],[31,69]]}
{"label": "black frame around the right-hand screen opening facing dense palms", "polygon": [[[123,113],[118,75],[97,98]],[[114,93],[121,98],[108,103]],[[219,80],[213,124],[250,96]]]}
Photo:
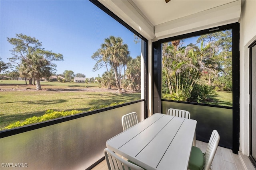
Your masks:
{"label": "black frame around the right-hand screen opening facing dense palms", "polygon": [[[174,41],[177,39],[185,39],[189,37],[195,37],[198,35],[204,35],[208,33],[224,31],[228,29],[232,29],[232,84],[233,84],[233,97],[232,97],[232,109],[233,109],[233,153],[238,154],[239,150],[239,133],[240,133],[240,106],[239,106],[239,98],[240,98],[240,51],[239,51],[239,40],[240,40],[240,24],[239,23],[231,23],[227,25],[222,25],[219,27],[213,27],[210,29],[204,29],[201,31],[196,31],[193,33],[186,33],[183,35],[178,35],[174,37],[168,37],[165,39],[160,39],[158,41],[153,42],[153,113],[160,112],[162,113],[162,57],[161,57],[161,44],[169,41]],[[236,69],[235,69],[236,68]],[[238,68],[238,69],[237,69]],[[170,100],[172,101],[172,100]],[[172,101],[176,102],[176,101]],[[186,102],[181,102],[186,103]],[[192,103],[194,104],[194,103]],[[220,107],[214,106],[210,104],[206,104],[209,107]]]}

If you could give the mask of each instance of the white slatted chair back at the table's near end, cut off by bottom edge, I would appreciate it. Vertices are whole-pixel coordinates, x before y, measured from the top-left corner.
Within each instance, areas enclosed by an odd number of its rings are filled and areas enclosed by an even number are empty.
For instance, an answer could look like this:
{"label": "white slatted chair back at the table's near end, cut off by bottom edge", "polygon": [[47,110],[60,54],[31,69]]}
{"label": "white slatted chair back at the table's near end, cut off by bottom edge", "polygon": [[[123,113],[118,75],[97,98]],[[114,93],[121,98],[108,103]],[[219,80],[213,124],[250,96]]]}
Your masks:
{"label": "white slatted chair back at the table's near end, cut off by bottom edge", "polygon": [[104,154],[108,170],[143,170],[140,166],[120,158],[108,148],[104,149]]}

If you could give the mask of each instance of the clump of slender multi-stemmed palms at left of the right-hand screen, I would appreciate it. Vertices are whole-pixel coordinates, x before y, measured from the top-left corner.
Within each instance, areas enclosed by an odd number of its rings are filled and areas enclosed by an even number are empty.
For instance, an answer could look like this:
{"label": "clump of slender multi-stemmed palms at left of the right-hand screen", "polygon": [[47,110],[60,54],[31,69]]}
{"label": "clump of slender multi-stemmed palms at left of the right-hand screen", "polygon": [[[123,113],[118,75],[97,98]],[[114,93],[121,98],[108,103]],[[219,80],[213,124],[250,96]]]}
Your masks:
{"label": "clump of slender multi-stemmed palms at left of the right-hand screen", "polygon": [[186,100],[196,82],[198,69],[192,63],[185,48],[178,48],[177,43],[162,45],[162,67],[166,77],[166,84],[170,92],[170,99]]}

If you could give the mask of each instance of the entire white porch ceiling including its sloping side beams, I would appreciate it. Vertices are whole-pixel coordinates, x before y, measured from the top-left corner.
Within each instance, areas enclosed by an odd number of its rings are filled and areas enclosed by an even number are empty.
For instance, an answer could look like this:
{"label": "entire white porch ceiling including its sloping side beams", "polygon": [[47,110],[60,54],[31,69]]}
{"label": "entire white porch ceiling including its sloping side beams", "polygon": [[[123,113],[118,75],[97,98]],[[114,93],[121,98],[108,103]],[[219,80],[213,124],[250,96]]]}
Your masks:
{"label": "entire white porch ceiling including its sloping side beams", "polygon": [[241,0],[98,0],[146,39],[238,22]]}

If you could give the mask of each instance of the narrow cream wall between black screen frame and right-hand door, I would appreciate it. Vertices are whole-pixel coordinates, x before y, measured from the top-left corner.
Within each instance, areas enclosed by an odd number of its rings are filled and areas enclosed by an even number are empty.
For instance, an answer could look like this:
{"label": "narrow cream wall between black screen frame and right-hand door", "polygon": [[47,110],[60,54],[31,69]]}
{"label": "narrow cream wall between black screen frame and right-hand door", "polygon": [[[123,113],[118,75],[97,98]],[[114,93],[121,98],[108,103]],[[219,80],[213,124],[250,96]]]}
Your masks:
{"label": "narrow cream wall between black screen frame and right-hand door", "polygon": [[256,1],[245,0],[240,22],[240,147],[249,156],[249,49],[256,40]]}

